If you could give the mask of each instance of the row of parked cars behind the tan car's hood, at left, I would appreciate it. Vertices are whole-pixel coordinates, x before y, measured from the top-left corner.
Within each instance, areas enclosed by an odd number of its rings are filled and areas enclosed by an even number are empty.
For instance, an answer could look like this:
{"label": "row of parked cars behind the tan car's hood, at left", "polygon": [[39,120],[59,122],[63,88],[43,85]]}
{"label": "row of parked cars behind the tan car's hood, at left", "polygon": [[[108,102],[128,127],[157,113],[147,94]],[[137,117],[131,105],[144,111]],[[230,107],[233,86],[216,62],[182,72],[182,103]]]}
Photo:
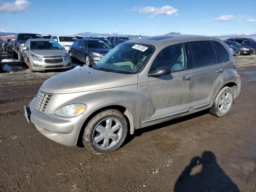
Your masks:
{"label": "row of parked cars behind the tan car's hood, at left", "polygon": [[4,51],[13,53],[28,65],[30,72],[69,69],[72,60],[88,66],[98,62],[116,45],[128,41],[128,37],[83,37],[64,35],[40,35],[19,33],[14,39],[2,43]]}

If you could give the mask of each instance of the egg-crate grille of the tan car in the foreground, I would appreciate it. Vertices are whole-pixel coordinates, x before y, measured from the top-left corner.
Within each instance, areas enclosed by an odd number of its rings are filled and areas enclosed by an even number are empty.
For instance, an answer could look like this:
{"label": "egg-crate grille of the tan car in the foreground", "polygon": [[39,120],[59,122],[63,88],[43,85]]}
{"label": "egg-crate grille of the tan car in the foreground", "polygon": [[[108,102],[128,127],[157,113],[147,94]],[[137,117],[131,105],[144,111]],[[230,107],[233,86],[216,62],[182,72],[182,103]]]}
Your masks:
{"label": "egg-crate grille of the tan car in the foreground", "polygon": [[54,98],[54,94],[48,94],[39,91],[36,97],[36,109],[40,112],[46,113],[50,101]]}

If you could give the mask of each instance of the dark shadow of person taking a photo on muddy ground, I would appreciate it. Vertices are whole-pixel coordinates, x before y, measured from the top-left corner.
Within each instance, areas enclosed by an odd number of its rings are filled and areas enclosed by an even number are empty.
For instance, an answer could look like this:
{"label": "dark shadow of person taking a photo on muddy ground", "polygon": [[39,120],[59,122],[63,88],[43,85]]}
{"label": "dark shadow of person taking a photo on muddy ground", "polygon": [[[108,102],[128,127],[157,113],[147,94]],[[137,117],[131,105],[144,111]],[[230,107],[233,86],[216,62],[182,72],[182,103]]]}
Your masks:
{"label": "dark shadow of person taking a photo on muddy ground", "polygon": [[[192,175],[192,169],[199,165],[202,170]],[[176,181],[174,192],[239,192],[239,189],[218,165],[215,155],[204,151],[201,158],[192,158]]]}

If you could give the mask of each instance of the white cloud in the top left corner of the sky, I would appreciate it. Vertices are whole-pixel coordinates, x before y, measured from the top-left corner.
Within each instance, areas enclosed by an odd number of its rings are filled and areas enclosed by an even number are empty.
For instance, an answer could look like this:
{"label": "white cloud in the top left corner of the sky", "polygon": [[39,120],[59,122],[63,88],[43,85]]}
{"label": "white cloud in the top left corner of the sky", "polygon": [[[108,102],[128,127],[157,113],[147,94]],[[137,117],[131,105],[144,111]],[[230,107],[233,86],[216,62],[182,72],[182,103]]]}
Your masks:
{"label": "white cloud in the top left corner of the sky", "polygon": [[0,12],[16,13],[26,10],[30,6],[30,2],[27,0],[16,0],[12,3],[0,2]]}

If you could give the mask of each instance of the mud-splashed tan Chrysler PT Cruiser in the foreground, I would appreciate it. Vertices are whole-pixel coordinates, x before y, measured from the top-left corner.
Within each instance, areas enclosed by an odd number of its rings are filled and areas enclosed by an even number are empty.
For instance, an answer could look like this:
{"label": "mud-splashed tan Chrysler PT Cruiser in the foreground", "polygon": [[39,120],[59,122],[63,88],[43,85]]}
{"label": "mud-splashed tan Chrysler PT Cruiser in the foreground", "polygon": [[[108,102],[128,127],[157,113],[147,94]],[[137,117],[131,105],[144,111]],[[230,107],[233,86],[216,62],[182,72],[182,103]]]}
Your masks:
{"label": "mud-splashed tan Chrysler PT Cruiser in the foreground", "polygon": [[130,131],[209,109],[230,112],[241,78],[218,38],[165,35],[124,42],[93,68],[53,76],[24,106],[46,137],[96,154],[118,149]]}

